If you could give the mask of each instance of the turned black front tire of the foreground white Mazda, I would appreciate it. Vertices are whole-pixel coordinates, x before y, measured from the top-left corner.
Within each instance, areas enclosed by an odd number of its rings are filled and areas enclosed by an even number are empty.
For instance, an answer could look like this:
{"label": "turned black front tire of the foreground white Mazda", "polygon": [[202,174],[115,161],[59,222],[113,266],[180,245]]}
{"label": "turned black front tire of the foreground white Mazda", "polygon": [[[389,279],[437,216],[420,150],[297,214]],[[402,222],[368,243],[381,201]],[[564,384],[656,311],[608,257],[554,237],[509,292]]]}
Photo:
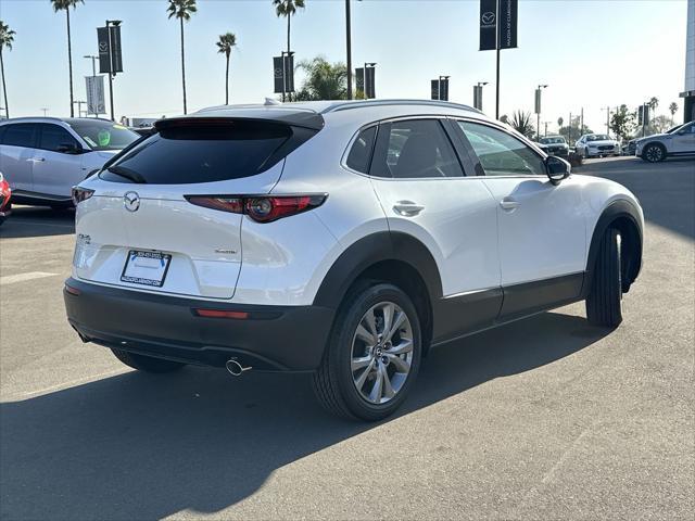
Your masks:
{"label": "turned black front tire of the foreground white Mazda", "polygon": [[609,228],[601,239],[591,290],[586,297],[586,318],[594,326],[616,328],[622,322],[622,275],[620,233]]}

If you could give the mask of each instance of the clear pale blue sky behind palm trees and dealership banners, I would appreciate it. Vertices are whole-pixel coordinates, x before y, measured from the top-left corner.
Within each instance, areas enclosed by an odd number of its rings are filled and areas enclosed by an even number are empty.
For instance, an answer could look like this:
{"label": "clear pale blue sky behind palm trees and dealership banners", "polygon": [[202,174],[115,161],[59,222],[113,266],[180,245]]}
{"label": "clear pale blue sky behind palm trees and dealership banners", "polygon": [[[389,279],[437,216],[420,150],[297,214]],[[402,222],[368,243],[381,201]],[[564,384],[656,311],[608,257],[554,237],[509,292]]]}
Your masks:
{"label": "clear pale blue sky behind palm trees and dealership banners", "polygon": [[[186,24],[189,112],[224,103],[218,35],[233,31],[231,103],[273,96],[271,56],[286,48],[286,23],[270,0],[199,0]],[[76,99],[85,99],[84,54],[97,54],[96,27],[123,21],[125,73],[114,84],[116,117],[159,117],[182,111],[178,22],[166,0],[86,0],[71,11]],[[452,101],[472,104],[472,85],[490,81],[483,110],[494,116],[494,51],[478,51],[478,0],[353,2],[353,66],[377,62],[379,98],[429,98],[429,80],[451,76]],[[585,123],[605,128],[606,105],[635,107],[656,96],[657,113],[682,100],[685,0],[519,0],[519,48],[502,51],[501,112],[533,111],[541,122],[567,120],[584,107]],[[12,116],[68,114],[65,13],[49,0],[0,0],[0,20],[16,31],[4,53]],[[345,61],[343,0],[306,0],[292,20],[298,59]],[[301,76],[296,78],[301,84]],[[678,115],[677,115],[678,117]]]}

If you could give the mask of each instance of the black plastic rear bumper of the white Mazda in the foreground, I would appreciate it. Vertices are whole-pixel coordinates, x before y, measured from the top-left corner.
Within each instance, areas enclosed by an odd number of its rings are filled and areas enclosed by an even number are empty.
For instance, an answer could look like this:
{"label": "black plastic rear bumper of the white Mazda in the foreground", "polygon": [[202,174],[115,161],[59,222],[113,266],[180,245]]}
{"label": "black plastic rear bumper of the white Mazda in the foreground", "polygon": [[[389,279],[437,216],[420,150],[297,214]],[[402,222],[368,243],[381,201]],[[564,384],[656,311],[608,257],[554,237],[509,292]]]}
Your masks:
{"label": "black plastic rear bumper of the white Mazda in the foreground", "polygon": [[[265,371],[312,371],[324,354],[334,310],[179,298],[67,279],[67,320],[84,341],[187,364],[224,367],[236,357]],[[193,309],[247,313],[207,318]]]}

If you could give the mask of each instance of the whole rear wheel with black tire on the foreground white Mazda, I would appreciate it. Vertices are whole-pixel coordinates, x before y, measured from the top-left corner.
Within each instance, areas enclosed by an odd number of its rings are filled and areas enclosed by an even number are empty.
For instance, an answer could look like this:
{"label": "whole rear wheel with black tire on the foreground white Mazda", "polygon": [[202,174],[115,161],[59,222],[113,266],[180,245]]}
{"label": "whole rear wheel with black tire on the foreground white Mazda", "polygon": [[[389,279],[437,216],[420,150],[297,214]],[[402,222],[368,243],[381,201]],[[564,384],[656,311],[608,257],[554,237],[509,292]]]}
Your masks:
{"label": "whole rear wheel with black tire on the foreground white Mazda", "polygon": [[[390,338],[383,334],[384,320],[390,321],[386,312],[399,322]],[[377,335],[370,332],[372,328]],[[349,419],[378,421],[392,415],[417,377],[421,339],[417,310],[403,291],[387,283],[356,288],[339,309],[324,359],[314,373],[318,402]],[[405,351],[408,343],[409,351]]]}

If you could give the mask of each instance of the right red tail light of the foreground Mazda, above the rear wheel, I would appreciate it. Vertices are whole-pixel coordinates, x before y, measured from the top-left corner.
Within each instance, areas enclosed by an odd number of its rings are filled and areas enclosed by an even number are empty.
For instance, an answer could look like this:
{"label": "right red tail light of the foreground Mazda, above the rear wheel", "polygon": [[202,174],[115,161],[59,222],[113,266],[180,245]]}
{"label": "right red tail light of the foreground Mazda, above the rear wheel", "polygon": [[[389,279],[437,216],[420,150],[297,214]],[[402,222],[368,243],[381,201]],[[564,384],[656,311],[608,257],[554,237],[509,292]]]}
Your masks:
{"label": "right red tail light of the foreground Mazda, above the rear wheel", "polygon": [[205,208],[244,214],[256,223],[271,223],[301,214],[324,204],[328,194],[307,195],[186,195],[186,200]]}

